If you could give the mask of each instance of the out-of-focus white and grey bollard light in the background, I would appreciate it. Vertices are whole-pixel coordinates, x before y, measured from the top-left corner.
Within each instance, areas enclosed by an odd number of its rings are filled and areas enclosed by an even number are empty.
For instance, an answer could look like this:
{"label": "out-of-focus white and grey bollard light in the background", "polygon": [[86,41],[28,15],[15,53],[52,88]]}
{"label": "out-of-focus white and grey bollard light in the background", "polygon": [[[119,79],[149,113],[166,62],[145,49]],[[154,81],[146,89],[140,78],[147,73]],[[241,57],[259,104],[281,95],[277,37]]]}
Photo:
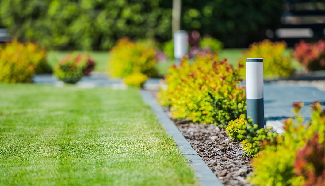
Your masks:
{"label": "out-of-focus white and grey bollard light in the background", "polygon": [[178,30],[174,34],[174,56],[177,65],[186,54],[188,54],[188,35],[185,30]]}

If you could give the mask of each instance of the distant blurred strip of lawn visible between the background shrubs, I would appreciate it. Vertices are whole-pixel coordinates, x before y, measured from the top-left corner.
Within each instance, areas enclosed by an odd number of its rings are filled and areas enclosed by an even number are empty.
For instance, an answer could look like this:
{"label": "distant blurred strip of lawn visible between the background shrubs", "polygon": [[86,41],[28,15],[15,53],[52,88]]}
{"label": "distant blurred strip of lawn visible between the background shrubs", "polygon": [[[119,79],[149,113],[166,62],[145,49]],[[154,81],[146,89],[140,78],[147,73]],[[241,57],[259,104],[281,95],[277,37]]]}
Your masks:
{"label": "distant blurred strip of lawn visible between the background shrubs", "polygon": [[[242,52],[247,49],[224,49],[219,52],[220,59],[227,58],[228,62],[237,66],[238,60],[242,56]],[[286,50],[286,54],[290,55],[292,52],[292,48]],[[47,60],[52,67],[54,67],[58,60],[61,59],[63,56],[69,54],[71,52],[65,51],[51,51],[47,54]],[[95,71],[106,71],[107,62],[109,60],[109,52],[82,52],[82,53],[89,53],[94,60],[96,61],[97,65],[95,67]],[[175,64],[175,60],[169,59],[164,62],[159,62],[157,64],[158,73],[160,76],[163,76],[168,73],[168,67],[172,64]],[[304,68],[295,60],[292,60],[292,65],[298,70],[304,70]]]}

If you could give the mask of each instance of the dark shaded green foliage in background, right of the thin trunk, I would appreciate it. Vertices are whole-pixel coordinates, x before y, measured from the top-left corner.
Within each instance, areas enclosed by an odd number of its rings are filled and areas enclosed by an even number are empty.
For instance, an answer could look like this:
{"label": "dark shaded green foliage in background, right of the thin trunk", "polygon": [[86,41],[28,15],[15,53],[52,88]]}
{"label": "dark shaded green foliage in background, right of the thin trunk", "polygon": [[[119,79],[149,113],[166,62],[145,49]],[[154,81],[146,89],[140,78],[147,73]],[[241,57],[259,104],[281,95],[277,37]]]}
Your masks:
{"label": "dark shaded green foliage in background, right of the thin trunk", "polygon": [[226,47],[247,47],[278,25],[282,0],[183,0],[182,28],[197,29]]}

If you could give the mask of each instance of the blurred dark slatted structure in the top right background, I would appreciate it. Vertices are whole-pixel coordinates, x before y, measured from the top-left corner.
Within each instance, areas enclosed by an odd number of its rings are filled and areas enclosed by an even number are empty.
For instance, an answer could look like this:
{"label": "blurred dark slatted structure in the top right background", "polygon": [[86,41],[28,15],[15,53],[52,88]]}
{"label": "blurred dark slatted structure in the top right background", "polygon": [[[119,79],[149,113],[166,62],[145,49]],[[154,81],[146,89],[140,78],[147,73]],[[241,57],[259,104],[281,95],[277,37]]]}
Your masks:
{"label": "blurred dark slatted structure in the top right background", "polygon": [[266,30],[266,37],[293,47],[300,40],[324,39],[324,29],[325,1],[285,0],[279,28]]}

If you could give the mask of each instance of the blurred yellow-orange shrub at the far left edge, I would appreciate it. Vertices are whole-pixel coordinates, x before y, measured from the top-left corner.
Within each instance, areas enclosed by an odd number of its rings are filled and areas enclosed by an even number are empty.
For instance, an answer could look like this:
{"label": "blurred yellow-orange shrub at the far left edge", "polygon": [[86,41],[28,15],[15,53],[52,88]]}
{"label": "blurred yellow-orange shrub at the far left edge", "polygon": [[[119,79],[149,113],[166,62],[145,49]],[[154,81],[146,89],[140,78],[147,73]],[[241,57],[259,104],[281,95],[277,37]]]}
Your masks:
{"label": "blurred yellow-orange shrub at the far left edge", "polygon": [[14,40],[0,47],[0,81],[5,83],[31,82],[35,73],[49,73],[46,51],[37,44]]}

